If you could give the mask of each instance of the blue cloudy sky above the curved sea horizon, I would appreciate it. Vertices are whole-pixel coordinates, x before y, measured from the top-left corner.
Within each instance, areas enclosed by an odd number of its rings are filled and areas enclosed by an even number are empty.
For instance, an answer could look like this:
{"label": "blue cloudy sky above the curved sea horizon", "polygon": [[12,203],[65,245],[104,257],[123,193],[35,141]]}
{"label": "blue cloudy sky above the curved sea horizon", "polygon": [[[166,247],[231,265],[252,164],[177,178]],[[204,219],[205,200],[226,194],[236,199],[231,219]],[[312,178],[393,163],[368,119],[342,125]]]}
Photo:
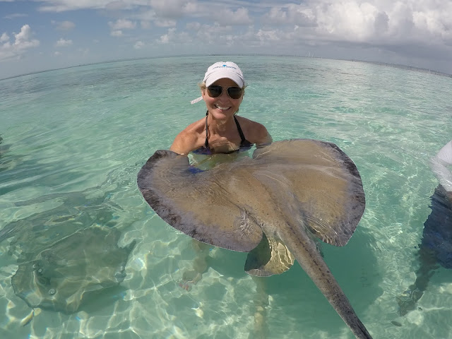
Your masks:
{"label": "blue cloudy sky above the curved sea horizon", "polygon": [[0,0],[0,79],[193,54],[379,61],[452,74],[452,0]]}

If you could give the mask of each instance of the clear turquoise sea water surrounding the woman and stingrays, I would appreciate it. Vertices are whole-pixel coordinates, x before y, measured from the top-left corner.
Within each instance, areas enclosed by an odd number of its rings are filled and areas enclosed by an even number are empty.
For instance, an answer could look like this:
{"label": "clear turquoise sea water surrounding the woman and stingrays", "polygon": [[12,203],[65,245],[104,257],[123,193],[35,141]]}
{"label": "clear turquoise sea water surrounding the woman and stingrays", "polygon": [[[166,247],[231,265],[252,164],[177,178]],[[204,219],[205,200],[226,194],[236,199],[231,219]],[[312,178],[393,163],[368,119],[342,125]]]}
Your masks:
{"label": "clear turquoise sea water surrounding the woman and stingrays", "polygon": [[[246,254],[213,249],[203,279],[184,290],[191,239],[162,222],[136,186],[145,160],[203,117],[203,103],[189,101],[220,59],[241,66],[249,85],[240,114],[273,140],[331,141],[357,165],[364,216],[347,246],[323,253],[373,337],[452,338],[451,270],[436,271],[415,311],[398,316],[396,302],[415,280],[437,185],[429,157],[452,136],[452,78],[244,56],[121,61],[0,81],[0,337],[253,338],[257,292]],[[136,242],[124,281],[76,313],[36,309],[31,318],[11,284],[20,263],[91,227],[119,230],[120,247]],[[267,290],[268,338],[354,338],[299,266],[268,278]]]}

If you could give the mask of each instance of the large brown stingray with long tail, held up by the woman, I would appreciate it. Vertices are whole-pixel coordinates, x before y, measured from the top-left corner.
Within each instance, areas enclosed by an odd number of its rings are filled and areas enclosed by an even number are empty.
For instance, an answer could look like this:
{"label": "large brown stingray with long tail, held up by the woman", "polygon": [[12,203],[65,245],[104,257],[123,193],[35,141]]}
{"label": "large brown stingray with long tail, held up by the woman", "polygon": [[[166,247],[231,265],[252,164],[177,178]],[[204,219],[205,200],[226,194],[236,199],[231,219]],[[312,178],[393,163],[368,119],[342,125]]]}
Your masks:
{"label": "large brown stingray with long tail, held up by the woman", "polygon": [[249,252],[251,275],[283,273],[296,259],[356,338],[371,338],[316,246],[316,238],[347,244],[364,213],[361,177],[337,145],[278,141],[204,172],[184,155],[157,150],[138,173],[138,188],[177,230]]}

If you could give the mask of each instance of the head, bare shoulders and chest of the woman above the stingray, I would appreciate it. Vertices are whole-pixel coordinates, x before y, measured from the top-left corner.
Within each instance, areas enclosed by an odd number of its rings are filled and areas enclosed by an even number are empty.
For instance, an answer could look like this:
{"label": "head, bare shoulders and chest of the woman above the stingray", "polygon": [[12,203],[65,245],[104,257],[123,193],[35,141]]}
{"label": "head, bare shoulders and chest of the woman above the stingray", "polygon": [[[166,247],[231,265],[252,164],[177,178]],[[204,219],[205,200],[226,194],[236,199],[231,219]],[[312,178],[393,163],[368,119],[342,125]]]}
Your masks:
{"label": "head, bare shoulders and chest of the woman above the stingray", "polygon": [[216,62],[207,69],[199,85],[201,97],[194,102],[206,102],[206,118],[190,124],[180,132],[170,150],[188,155],[211,155],[248,150],[251,145],[271,143],[265,126],[244,117],[236,117],[246,87],[243,73],[231,61]]}

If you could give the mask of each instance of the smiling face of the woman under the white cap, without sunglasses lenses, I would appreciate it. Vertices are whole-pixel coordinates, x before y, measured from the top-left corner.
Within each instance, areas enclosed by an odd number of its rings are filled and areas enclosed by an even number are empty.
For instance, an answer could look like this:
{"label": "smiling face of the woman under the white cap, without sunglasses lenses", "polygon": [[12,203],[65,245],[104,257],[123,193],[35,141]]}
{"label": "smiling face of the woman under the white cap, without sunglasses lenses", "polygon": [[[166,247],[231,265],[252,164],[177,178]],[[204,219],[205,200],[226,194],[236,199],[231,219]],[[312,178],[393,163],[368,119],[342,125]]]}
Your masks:
{"label": "smiling face of the woman under the white cap, without sunglasses lenses", "polygon": [[203,88],[203,100],[206,102],[209,113],[212,114],[215,119],[227,119],[228,117],[232,117],[232,115],[239,110],[239,106],[243,100],[243,94],[239,99],[232,99],[227,95],[227,88],[238,87],[237,83],[234,83],[231,79],[222,78],[215,81],[213,85],[222,86],[223,90],[220,96],[210,97],[207,88]]}

